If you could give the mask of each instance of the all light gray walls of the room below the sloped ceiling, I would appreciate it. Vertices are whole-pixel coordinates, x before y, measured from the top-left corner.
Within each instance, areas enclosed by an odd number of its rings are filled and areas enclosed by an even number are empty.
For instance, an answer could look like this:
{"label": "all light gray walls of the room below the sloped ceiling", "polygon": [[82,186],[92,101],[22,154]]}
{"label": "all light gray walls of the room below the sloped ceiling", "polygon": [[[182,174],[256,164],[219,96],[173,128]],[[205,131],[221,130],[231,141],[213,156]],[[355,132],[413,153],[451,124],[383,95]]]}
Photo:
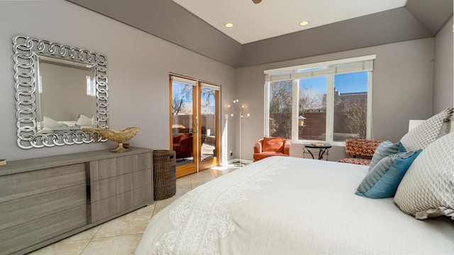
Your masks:
{"label": "all light gray walls of the room below the sloped ceiling", "polygon": [[[55,13],[65,13],[65,18],[58,18],[56,22]],[[0,1],[0,158],[28,159],[115,146],[112,142],[104,142],[19,149],[16,145],[13,35],[23,34],[104,53],[109,62],[110,127],[140,127],[138,135],[130,141],[133,146],[169,148],[169,72],[221,84],[221,116],[230,113],[226,105],[236,98],[245,104],[245,113],[250,113],[242,123],[241,157],[252,159],[254,142],[263,136],[265,69],[376,54],[373,77],[375,139],[397,141],[405,134],[409,119],[429,118],[438,109],[452,106],[452,23],[451,18],[436,38],[234,69],[67,1]],[[446,55],[442,65],[449,65],[448,72],[439,73],[438,60],[433,72],[434,54]],[[228,121],[221,118],[221,121],[221,134],[226,134],[222,140],[224,154],[233,150],[234,157],[238,158],[240,142],[238,136],[233,138],[238,133],[238,123],[234,118]],[[236,147],[233,147],[234,143]],[[293,145],[291,154],[301,157],[301,145]],[[333,148],[330,159],[341,158],[343,154],[343,147]]]}

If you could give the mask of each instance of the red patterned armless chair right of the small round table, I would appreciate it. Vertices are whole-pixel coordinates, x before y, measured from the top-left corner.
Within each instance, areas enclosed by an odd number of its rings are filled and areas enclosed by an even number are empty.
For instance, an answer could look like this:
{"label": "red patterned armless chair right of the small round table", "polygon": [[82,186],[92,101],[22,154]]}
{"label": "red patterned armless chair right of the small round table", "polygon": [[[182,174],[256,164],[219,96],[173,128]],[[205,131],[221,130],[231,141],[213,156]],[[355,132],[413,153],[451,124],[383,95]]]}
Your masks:
{"label": "red patterned armless chair right of the small round table", "polygon": [[375,149],[383,141],[366,139],[347,139],[345,140],[345,153],[352,156],[346,159],[339,159],[338,162],[370,165]]}

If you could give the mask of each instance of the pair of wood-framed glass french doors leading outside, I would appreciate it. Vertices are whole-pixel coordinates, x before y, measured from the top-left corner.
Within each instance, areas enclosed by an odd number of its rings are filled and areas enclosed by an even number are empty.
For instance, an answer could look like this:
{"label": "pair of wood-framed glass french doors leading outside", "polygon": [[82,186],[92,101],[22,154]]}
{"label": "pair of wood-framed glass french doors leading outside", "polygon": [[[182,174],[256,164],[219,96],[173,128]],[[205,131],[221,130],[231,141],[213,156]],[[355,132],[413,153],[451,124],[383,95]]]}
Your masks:
{"label": "pair of wood-framed glass french doors leading outside", "polygon": [[170,74],[170,130],[177,178],[216,166],[219,86]]}

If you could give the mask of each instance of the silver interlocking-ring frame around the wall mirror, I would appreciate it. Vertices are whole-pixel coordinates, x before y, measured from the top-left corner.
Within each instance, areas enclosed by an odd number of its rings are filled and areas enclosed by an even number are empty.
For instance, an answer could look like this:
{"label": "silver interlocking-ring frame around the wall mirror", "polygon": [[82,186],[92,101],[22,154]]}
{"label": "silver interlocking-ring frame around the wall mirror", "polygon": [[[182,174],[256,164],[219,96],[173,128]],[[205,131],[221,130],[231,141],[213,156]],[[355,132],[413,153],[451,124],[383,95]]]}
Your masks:
{"label": "silver interlocking-ring frame around the wall mirror", "polygon": [[70,62],[92,64],[95,67],[96,80],[95,128],[109,128],[107,60],[104,54],[30,38],[26,35],[13,37],[13,52],[18,147],[31,149],[106,141],[99,135],[82,129],[38,132],[35,102],[36,75],[39,72],[36,69],[38,57],[53,57]]}

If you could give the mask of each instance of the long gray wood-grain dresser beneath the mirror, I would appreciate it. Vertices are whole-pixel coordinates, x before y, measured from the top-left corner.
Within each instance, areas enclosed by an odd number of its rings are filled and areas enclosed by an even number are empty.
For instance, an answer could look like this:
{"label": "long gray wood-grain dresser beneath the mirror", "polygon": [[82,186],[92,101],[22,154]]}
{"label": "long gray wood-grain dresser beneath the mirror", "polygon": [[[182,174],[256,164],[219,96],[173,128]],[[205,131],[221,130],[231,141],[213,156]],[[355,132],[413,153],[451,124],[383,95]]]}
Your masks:
{"label": "long gray wood-grain dresser beneath the mirror", "polygon": [[153,203],[152,154],[132,147],[0,166],[0,254],[26,254]]}

